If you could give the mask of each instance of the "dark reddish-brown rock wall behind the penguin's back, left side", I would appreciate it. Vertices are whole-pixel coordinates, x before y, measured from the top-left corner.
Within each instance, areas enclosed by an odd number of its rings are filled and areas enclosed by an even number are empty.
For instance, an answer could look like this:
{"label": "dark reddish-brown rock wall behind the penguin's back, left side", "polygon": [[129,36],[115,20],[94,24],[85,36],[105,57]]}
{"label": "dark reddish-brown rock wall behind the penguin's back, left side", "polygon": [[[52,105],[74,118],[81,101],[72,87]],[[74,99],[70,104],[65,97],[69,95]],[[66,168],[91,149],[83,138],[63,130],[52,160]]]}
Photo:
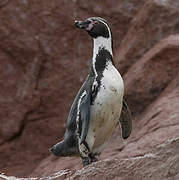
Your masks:
{"label": "dark reddish-brown rock wall behind the penguin's back, left side", "polygon": [[0,2],[1,172],[27,176],[64,134],[92,53],[90,39],[74,28],[74,20],[108,19],[116,47],[143,2]]}

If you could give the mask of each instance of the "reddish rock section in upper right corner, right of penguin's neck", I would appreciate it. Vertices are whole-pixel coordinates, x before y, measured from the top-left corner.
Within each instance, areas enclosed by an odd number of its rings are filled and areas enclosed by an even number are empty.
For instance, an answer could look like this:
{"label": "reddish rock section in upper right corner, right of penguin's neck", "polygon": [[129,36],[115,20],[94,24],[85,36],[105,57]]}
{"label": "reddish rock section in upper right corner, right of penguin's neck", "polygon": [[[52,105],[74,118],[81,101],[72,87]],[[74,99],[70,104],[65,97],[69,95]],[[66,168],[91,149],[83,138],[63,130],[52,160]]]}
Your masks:
{"label": "reddish rock section in upper right corner, right of penguin's neck", "polygon": [[133,18],[117,54],[122,74],[161,39],[179,33],[179,1],[150,0]]}

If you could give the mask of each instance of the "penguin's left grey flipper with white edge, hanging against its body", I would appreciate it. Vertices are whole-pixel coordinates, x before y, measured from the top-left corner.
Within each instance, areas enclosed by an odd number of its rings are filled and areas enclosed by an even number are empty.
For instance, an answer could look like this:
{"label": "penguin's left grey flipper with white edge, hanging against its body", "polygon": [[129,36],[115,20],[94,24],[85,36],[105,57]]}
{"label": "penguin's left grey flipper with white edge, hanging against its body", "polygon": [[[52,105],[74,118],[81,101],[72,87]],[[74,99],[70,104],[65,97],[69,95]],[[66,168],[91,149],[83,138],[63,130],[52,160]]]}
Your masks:
{"label": "penguin's left grey flipper with white edge, hanging against its body", "polygon": [[81,137],[80,144],[84,143],[88,128],[89,128],[89,120],[90,120],[90,105],[91,105],[91,88],[84,91],[85,95],[82,96],[81,103],[79,106],[79,118],[81,123]]}

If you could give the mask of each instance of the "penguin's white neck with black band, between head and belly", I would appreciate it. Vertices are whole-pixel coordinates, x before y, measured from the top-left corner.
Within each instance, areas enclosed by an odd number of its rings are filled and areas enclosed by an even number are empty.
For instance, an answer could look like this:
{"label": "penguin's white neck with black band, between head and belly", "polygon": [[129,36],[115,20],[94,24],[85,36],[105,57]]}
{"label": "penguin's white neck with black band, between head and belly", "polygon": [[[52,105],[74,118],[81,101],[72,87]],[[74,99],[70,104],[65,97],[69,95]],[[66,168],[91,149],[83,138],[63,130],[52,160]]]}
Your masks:
{"label": "penguin's white neck with black band, between head and belly", "polygon": [[93,39],[92,69],[95,77],[102,73],[107,63],[113,63],[112,38],[97,37]]}

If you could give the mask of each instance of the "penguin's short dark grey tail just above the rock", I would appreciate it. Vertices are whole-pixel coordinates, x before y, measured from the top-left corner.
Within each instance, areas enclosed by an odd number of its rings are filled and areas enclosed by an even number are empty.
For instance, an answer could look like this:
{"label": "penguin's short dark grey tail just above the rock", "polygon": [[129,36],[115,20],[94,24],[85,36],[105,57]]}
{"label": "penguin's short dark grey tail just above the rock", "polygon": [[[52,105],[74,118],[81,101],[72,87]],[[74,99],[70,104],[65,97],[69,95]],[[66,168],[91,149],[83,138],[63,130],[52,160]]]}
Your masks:
{"label": "penguin's short dark grey tail just above the rock", "polygon": [[52,148],[50,148],[50,152],[55,156],[61,157],[73,156],[78,153],[75,147],[69,147],[65,141],[61,141],[52,146]]}

